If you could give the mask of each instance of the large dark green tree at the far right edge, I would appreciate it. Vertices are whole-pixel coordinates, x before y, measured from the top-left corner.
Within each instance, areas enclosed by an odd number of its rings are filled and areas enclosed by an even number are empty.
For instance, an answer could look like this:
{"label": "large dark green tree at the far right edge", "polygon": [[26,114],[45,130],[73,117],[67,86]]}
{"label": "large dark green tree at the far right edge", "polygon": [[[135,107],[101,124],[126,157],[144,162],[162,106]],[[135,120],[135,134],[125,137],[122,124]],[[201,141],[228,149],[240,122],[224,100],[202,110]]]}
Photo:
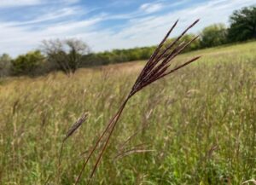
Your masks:
{"label": "large dark green tree at the far right edge", "polygon": [[230,42],[256,38],[256,7],[236,10],[230,16]]}

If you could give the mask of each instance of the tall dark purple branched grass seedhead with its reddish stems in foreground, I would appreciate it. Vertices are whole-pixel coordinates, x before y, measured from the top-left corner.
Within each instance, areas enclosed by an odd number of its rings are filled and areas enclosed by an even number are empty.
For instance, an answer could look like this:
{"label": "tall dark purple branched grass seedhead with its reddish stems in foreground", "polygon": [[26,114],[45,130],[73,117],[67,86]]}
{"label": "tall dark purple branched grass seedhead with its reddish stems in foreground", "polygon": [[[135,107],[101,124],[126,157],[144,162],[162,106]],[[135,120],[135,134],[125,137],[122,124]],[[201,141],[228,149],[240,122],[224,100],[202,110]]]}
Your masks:
{"label": "tall dark purple branched grass seedhead with its reddish stems in foreground", "polygon": [[[85,159],[83,168],[81,169],[75,184],[79,183],[79,179],[82,176],[85,166],[88,164],[88,161],[90,160],[92,154],[95,153],[96,148],[98,147],[99,143],[102,141],[102,138],[105,136],[105,137],[107,137],[107,139],[106,139],[106,141],[104,141],[103,146],[100,150],[100,153],[97,155],[96,164],[94,165],[92,172],[90,173],[90,179],[88,182],[88,184],[90,184],[92,177],[96,172],[96,168],[99,165],[100,160],[102,159],[102,155],[108,146],[109,139],[113,135],[113,130],[119,120],[119,117],[120,117],[121,113],[123,112],[126,103],[131,99],[131,97],[133,95],[135,95],[137,92],[139,92],[140,90],[143,90],[143,88],[148,86],[149,84],[154,83],[158,79],[163,78],[166,75],[171,74],[172,72],[176,72],[178,69],[182,68],[183,66],[187,66],[191,62],[196,61],[200,58],[199,56],[197,56],[189,61],[184,62],[181,65],[171,68],[171,66],[172,66],[171,63],[172,63],[173,59],[178,54],[180,54],[183,51],[183,49],[185,49],[187,46],[189,46],[190,43],[192,43],[193,41],[195,41],[196,38],[198,38],[198,37],[195,37],[192,40],[190,40],[188,43],[179,43],[177,45],[177,42],[180,41],[181,38],[183,38],[183,35],[186,32],[188,32],[191,27],[195,26],[195,24],[199,21],[199,20],[195,20],[195,22],[193,24],[191,24],[187,29],[185,29],[182,32],[182,34],[177,37],[177,39],[175,39],[172,43],[170,43],[166,47],[166,49],[163,49],[163,46],[166,43],[166,39],[169,37],[169,35],[171,34],[171,32],[175,28],[175,26],[177,26],[177,21],[174,23],[174,25],[172,26],[170,31],[167,32],[166,37],[160,42],[159,46],[154,50],[153,55],[151,55],[148,62],[144,66],[142,72],[140,72],[140,74],[138,75],[138,78],[137,78],[135,84],[132,86],[129,95],[125,98],[125,101],[119,107],[118,112],[116,114],[114,114],[112,119],[110,119],[106,129],[102,132],[102,135],[99,136],[95,146],[92,147],[92,149],[90,150],[90,153],[89,153],[87,159]],[[141,153],[141,152],[147,152],[147,150],[133,149],[131,151],[127,151],[127,153],[125,153],[125,155],[129,154],[129,153]]]}

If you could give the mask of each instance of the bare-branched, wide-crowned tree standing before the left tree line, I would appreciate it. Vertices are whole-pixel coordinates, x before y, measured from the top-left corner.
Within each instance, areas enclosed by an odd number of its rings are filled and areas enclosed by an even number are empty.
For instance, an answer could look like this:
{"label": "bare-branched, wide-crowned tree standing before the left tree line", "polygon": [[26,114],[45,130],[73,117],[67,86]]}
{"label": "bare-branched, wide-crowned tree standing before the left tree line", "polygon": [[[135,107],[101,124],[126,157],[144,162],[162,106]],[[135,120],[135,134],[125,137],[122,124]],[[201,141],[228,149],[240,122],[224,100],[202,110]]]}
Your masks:
{"label": "bare-branched, wide-crowned tree standing before the left tree line", "polygon": [[67,76],[79,68],[82,56],[90,53],[89,46],[75,38],[43,41],[42,51]]}

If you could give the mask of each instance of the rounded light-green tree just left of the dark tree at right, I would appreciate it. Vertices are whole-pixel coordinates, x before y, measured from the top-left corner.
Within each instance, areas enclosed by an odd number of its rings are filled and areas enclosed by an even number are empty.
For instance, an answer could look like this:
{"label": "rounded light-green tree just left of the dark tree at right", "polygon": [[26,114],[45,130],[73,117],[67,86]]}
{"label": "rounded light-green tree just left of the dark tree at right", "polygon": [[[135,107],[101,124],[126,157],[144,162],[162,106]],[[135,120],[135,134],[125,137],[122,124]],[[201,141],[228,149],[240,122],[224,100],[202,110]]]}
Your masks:
{"label": "rounded light-green tree just left of the dark tree at right", "polygon": [[201,47],[209,48],[226,43],[227,29],[224,24],[207,26],[201,32]]}

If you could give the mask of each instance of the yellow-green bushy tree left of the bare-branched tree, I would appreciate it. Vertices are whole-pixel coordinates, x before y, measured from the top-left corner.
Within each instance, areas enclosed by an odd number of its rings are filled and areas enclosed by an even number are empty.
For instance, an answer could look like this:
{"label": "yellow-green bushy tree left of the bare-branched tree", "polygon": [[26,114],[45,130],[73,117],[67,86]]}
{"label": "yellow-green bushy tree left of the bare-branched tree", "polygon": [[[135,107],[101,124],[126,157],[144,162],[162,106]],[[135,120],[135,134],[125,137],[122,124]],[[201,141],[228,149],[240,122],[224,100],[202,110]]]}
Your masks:
{"label": "yellow-green bushy tree left of the bare-branched tree", "polygon": [[12,72],[15,75],[36,75],[38,67],[44,62],[44,55],[39,50],[26,55],[19,55],[12,61]]}

